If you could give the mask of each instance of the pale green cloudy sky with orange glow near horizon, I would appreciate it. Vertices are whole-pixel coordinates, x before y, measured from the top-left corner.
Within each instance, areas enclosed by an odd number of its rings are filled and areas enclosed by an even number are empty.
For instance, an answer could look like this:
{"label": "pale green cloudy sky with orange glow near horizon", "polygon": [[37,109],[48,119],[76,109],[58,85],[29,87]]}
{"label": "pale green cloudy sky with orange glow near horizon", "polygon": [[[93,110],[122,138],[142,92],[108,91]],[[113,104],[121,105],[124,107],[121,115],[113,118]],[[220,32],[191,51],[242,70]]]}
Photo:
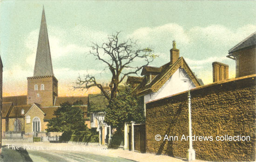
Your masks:
{"label": "pale green cloudy sky with orange glow near horizon", "polygon": [[110,72],[88,52],[92,43],[102,44],[116,31],[123,41],[132,38],[153,49],[159,57],[150,65],[157,67],[168,63],[175,40],[180,56],[204,84],[212,83],[214,61],[228,64],[229,78],[235,77],[228,51],[256,31],[256,1],[1,0],[3,96],[27,94],[43,5],[59,96],[99,92],[74,91],[79,75],[109,83]]}

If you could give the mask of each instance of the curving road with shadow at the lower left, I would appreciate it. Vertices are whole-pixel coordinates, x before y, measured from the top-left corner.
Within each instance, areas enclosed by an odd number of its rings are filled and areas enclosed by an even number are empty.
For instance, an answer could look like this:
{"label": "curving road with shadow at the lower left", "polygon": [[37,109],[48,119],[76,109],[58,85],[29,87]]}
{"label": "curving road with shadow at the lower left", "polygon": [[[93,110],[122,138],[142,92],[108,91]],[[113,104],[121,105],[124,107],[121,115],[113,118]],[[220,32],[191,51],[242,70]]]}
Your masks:
{"label": "curving road with shadow at the lower left", "polygon": [[73,145],[69,143],[5,142],[4,162],[134,162],[110,154],[101,146]]}

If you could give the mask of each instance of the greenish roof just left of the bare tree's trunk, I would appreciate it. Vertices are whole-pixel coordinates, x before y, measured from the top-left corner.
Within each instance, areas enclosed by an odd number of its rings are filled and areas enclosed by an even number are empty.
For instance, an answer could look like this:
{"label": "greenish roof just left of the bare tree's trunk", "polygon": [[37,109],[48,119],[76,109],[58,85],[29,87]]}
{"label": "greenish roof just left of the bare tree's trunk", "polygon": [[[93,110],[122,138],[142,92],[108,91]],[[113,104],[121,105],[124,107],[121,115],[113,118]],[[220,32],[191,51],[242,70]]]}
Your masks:
{"label": "greenish roof just left of the bare tree's trunk", "polygon": [[88,95],[88,112],[104,111],[108,105],[108,99],[100,94]]}

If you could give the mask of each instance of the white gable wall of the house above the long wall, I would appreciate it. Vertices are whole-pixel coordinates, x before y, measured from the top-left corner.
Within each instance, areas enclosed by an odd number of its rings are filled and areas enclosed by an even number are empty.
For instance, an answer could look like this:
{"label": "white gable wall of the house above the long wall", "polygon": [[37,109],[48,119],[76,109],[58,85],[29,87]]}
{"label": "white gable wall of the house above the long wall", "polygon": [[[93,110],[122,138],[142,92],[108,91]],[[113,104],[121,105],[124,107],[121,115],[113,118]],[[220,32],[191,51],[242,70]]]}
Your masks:
{"label": "white gable wall of the house above the long wall", "polygon": [[[189,81],[184,82],[181,80],[182,78],[188,78]],[[195,85],[192,83],[186,71],[184,71],[182,68],[179,68],[157,92],[145,95],[144,103],[174,95],[183,91],[188,91],[194,87]],[[144,110],[146,110],[146,104],[144,104]]]}

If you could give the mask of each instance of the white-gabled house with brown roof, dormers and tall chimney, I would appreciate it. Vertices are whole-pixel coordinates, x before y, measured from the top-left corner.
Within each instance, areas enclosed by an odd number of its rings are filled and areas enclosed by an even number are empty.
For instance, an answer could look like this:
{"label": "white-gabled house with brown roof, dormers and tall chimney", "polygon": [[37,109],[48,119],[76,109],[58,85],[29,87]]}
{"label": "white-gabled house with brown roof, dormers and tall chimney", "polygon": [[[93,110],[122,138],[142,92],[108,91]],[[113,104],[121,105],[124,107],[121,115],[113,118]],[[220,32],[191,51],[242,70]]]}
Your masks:
{"label": "white-gabled house with brown roof, dormers and tall chimney", "polygon": [[[143,103],[203,85],[202,80],[196,78],[185,59],[180,57],[175,41],[170,50],[170,61],[160,67],[143,67],[141,76],[143,77],[128,77],[127,83],[136,87],[136,92],[142,97]],[[188,81],[185,82],[184,78]]]}

